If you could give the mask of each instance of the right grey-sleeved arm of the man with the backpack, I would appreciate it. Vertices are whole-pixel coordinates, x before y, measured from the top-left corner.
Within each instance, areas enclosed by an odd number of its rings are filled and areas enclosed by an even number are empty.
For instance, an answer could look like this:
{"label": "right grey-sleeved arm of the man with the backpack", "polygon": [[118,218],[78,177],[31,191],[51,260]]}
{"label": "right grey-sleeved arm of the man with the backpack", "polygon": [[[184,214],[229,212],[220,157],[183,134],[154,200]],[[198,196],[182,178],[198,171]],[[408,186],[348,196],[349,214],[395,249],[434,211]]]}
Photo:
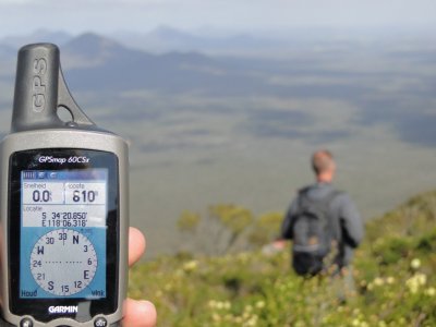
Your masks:
{"label": "right grey-sleeved arm of the man with the backpack", "polygon": [[340,197],[340,223],[344,242],[351,247],[358,247],[362,242],[364,227],[361,215],[348,194]]}

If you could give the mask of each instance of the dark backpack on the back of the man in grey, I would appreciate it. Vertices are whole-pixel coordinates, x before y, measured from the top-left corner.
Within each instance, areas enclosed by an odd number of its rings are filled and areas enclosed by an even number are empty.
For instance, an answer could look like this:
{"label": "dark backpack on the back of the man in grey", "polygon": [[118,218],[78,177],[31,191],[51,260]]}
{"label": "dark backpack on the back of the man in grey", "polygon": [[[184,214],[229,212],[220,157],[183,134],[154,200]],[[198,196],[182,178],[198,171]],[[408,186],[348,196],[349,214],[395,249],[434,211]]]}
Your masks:
{"label": "dark backpack on the back of the man in grey", "polygon": [[329,205],[338,193],[331,191],[320,199],[311,199],[306,189],[300,192],[292,223],[292,266],[298,275],[315,276],[326,266],[335,241]]}

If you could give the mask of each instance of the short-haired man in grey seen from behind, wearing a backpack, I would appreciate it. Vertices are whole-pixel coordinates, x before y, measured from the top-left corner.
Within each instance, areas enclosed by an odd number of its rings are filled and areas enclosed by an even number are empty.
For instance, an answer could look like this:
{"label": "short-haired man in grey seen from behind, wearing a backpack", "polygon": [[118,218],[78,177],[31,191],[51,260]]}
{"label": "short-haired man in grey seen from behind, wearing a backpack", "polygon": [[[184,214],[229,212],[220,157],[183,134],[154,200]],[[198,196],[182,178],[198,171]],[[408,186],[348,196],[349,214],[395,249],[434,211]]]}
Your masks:
{"label": "short-haired man in grey seen from behind, wearing a backpack", "polygon": [[281,226],[281,238],[292,240],[292,266],[299,275],[341,276],[353,289],[353,250],[363,239],[361,216],[346,192],[332,186],[336,173],[328,150],[312,156],[316,182],[299,191]]}

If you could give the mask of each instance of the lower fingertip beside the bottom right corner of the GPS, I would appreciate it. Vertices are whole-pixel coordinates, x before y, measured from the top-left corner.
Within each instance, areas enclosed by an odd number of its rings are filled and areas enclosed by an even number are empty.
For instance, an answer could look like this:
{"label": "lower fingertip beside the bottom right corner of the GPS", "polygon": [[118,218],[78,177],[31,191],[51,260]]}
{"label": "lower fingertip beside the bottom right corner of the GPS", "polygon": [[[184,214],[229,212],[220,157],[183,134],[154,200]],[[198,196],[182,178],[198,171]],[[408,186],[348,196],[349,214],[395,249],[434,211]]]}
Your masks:
{"label": "lower fingertip beside the bottom right corner of the GPS", "polygon": [[124,302],[123,327],[154,327],[156,326],[156,307],[148,301],[128,299]]}

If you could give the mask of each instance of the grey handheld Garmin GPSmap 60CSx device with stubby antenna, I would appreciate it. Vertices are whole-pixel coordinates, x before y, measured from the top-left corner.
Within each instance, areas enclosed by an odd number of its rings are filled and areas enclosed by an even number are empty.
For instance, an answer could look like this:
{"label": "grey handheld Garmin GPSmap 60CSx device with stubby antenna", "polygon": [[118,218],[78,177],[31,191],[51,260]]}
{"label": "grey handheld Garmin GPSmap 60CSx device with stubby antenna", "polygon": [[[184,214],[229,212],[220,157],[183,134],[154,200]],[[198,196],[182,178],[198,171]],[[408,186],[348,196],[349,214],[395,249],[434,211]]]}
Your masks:
{"label": "grey handheld Garmin GPSmap 60CSx device with stubby antenna", "polygon": [[126,142],[70,95],[59,49],[23,47],[0,145],[0,326],[121,325],[128,161]]}

